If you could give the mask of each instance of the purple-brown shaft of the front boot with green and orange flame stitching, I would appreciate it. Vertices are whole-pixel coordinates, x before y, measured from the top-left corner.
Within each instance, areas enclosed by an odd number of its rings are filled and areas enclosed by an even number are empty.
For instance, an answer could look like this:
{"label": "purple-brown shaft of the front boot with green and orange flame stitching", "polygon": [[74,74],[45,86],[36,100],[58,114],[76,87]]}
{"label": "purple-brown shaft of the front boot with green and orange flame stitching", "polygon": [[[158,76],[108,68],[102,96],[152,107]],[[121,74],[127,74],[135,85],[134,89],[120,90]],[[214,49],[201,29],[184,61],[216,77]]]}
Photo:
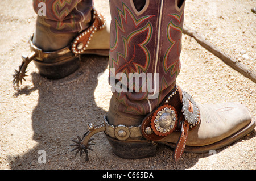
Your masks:
{"label": "purple-brown shaft of the front boot with green and orange flame stitching", "polygon": [[[126,75],[122,82],[127,90],[131,75],[151,73],[152,77],[140,80],[139,90],[150,84],[154,91],[116,92],[122,102],[119,110],[135,115],[150,113],[170,92],[180,71],[181,37],[185,2],[177,0],[110,1],[112,24],[110,30],[110,78],[120,81],[118,73]],[[123,77],[122,77],[123,78]]]}

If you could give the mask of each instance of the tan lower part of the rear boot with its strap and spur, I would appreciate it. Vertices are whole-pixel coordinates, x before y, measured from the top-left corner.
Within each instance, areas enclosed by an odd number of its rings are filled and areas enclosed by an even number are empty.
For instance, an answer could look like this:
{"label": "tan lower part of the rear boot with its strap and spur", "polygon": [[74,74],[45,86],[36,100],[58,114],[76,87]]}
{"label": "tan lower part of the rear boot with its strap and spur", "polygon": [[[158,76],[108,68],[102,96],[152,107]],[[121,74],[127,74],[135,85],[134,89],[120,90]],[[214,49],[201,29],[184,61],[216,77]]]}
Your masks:
{"label": "tan lower part of the rear boot with its strap and spur", "polygon": [[[81,12],[78,10],[82,8],[80,6],[76,5],[73,11]],[[106,20],[94,8],[89,7],[82,22],[74,24],[72,28],[69,28],[71,26],[67,20],[59,22],[63,24],[59,27],[61,25],[56,21],[38,16],[36,30],[30,37],[31,54],[23,56],[22,65],[14,75],[14,84],[22,83],[27,65],[32,60],[40,75],[48,79],[60,79],[79,68],[82,54],[109,55],[110,35]]]}

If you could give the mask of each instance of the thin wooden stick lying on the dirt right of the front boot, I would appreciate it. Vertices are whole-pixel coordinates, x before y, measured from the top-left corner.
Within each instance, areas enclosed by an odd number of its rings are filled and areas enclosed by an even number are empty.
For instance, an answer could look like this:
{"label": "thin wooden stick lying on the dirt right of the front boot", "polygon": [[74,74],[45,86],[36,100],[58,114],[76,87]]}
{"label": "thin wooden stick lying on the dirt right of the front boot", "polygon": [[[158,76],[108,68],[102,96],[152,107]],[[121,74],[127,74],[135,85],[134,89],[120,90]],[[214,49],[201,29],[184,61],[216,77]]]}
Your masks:
{"label": "thin wooden stick lying on the dirt right of the front boot", "polygon": [[225,53],[222,53],[220,49],[215,47],[213,44],[210,44],[207,40],[205,40],[204,37],[200,36],[196,31],[191,30],[191,28],[188,28],[185,25],[183,27],[183,33],[185,35],[193,37],[197,41],[197,43],[199,43],[202,47],[204,47],[209,52],[214,54],[216,57],[220,58],[225,64],[229,65],[231,68],[233,68],[234,70],[238,71],[239,73],[243,74],[245,77],[251,79],[253,82],[256,83],[255,71],[248,69],[242,63],[233,60]]}

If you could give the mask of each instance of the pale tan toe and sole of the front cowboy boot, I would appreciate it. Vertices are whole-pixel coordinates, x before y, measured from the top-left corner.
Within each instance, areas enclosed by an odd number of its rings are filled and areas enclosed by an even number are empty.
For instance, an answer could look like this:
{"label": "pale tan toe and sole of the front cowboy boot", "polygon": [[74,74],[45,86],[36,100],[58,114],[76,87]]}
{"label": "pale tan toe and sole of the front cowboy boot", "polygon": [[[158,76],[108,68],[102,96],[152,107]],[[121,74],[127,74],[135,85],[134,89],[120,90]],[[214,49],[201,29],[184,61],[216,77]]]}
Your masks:
{"label": "pale tan toe and sole of the front cowboy boot", "polygon": [[[189,131],[184,151],[205,153],[232,144],[255,128],[255,119],[246,106],[240,103],[198,104],[201,121]],[[160,140],[176,147],[179,133]]]}

